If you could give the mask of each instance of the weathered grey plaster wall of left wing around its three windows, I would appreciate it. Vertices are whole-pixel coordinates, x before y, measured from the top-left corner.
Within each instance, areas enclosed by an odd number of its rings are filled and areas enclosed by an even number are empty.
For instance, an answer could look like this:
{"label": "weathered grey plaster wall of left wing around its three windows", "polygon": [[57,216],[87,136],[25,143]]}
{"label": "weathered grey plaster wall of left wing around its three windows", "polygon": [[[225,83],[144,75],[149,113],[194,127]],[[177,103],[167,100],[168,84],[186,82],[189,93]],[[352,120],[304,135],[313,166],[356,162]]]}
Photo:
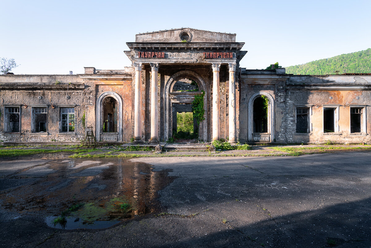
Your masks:
{"label": "weathered grey plaster wall of left wing around its three windows", "polygon": [[[81,117],[85,104],[84,85],[73,75],[4,75],[0,76],[0,140],[46,142],[79,141],[84,136]],[[20,105],[20,133],[4,133],[4,105]],[[32,108],[47,108],[47,132],[32,133]],[[75,132],[60,131],[61,106],[75,107]],[[33,107],[32,107],[33,106]]]}

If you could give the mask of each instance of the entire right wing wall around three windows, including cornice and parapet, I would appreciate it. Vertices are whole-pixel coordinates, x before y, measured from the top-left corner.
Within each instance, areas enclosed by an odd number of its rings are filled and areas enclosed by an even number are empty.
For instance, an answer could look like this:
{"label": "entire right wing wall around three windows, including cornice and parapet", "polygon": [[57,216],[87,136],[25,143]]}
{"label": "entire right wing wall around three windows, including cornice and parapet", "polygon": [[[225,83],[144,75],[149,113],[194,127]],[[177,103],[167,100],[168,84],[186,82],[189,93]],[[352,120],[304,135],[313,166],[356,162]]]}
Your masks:
{"label": "entire right wing wall around three windows, including cornice and parapet", "polygon": [[[293,143],[320,143],[327,140],[340,143],[370,143],[371,131],[371,76],[290,76],[287,92],[286,138]],[[322,88],[322,89],[321,89]],[[296,133],[296,107],[311,108],[310,122],[312,130],[308,134]],[[324,106],[338,106],[338,131],[324,134]],[[364,106],[366,130],[362,133],[350,133],[351,106]],[[326,107],[326,106],[325,106]]]}

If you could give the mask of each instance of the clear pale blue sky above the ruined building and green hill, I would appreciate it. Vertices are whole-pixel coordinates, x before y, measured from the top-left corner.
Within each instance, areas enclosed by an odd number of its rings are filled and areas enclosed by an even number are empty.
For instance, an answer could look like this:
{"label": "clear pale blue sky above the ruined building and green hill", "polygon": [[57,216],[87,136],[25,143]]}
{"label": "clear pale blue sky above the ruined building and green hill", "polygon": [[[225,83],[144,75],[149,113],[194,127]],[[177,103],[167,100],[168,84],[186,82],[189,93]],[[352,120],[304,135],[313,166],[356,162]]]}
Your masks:
{"label": "clear pale blue sky above the ruined building and green hill", "polygon": [[248,69],[371,47],[371,0],[0,1],[0,57],[20,64],[15,74],[121,69],[135,34],[179,27],[236,33]]}

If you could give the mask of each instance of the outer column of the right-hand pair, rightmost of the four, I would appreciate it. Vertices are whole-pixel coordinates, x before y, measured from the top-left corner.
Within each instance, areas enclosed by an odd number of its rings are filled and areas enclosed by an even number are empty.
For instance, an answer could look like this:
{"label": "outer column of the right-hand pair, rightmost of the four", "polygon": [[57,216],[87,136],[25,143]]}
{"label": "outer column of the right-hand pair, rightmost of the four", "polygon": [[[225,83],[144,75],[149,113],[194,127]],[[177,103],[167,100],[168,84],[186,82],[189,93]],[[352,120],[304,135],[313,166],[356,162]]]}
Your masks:
{"label": "outer column of the right-hand pair, rightmost of the four", "polygon": [[229,142],[236,142],[236,64],[229,63]]}

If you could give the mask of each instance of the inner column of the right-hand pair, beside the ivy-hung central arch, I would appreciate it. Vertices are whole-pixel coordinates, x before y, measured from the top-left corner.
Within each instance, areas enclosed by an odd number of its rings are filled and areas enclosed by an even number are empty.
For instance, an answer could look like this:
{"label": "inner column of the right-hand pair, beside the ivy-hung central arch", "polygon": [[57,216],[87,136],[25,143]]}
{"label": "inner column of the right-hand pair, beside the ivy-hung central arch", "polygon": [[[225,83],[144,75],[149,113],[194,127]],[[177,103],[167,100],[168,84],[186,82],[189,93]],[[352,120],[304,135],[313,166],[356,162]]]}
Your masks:
{"label": "inner column of the right-hand pair, beside the ivy-hung central arch", "polygon": [[213,63],[213,140],[220,139],[220,109],[219,109],[219,68]]}

